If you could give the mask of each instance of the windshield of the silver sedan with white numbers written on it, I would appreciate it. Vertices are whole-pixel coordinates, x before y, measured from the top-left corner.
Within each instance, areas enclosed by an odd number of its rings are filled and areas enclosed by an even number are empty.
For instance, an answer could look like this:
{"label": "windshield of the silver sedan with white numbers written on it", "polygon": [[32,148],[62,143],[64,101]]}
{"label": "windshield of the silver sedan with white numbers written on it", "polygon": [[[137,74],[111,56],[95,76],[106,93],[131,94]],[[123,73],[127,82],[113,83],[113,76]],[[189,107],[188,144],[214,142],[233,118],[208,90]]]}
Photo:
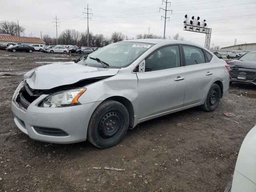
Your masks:
{"label": "windshield of the silver sedan with white numbers written on it", "polygon": [[[154,44],[139,42],[118,42],[105,46],[90,54],[91,58],[98,58],[107,63],[108,68],[122,68],[129,66]],[[78,64],[103,67],[102,64],[90,57],[85,57]]]}

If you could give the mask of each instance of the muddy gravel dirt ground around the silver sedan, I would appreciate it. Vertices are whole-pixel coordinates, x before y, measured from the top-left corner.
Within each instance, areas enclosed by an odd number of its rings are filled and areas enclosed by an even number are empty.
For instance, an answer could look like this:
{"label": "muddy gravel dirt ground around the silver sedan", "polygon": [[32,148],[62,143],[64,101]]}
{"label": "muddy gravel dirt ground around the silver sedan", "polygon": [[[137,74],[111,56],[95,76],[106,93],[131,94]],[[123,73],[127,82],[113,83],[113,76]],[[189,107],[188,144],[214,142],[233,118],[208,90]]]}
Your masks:
{"label": "muddy gravel dirt ground around the silver sedan", "polygon": [[[222,192],[242,141],[256,124],[256,86],[231,84],[214,112],[192,108],[143,122],[100,150],[89,142],[34,141],[12,120],[22,74],[79,56],[0,51],[0,192]],[[225,112],[236,114],[224,118]],[[95,170],[93,167],[124,171]]]}

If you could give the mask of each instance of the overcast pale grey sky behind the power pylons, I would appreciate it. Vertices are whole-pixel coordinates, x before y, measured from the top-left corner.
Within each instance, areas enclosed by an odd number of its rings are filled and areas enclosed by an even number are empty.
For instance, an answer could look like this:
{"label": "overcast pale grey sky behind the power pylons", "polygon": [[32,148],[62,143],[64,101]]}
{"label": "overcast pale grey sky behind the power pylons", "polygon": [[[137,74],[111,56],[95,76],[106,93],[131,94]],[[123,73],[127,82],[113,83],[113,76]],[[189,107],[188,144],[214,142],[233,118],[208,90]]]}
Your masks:
{"label": "overcast pale grey sky behind the power pylons", "polygon": [[[58,34],[68,28],[81,32],[87,29],[82,15],[87,4],[93,13],[89,30],[94,34],[110,36],[118,31],[132,38],[148,33],[150,27],[150,33],[163,36],[164,11],[159,12],[159,7],[165,5],[161,0],[0,0],[0,21],[19,20],[26,36],[32,32],[40,37],[40,31],[56,36],[52,21],[57,15]],[[235,38],[237,44],[256,43],[256,0],[172,0],[167,9],[173,10],[167,13],[167,38],[179,33],[185,40],[204,46],[205,34],[183,30],[184,15],[188,14],[190,18],[206,19],[212,28],[211,48],[212,43],[220,47],[234,45]]]}

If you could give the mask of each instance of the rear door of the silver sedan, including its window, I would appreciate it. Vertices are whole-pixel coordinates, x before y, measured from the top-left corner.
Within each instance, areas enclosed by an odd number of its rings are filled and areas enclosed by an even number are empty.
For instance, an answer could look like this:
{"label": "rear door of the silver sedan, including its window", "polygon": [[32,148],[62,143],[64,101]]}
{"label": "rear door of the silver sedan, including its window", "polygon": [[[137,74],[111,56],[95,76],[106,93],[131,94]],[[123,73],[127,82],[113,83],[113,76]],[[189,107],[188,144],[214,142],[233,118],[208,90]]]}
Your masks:
{"label": "rear door of the silver sedan, including its window", "polygon": [[183,45],[185,71],[186,71],[186,94],[184,106],[197,104],[208,93],[213,79],[213,68],[204,55],[201,48]]}

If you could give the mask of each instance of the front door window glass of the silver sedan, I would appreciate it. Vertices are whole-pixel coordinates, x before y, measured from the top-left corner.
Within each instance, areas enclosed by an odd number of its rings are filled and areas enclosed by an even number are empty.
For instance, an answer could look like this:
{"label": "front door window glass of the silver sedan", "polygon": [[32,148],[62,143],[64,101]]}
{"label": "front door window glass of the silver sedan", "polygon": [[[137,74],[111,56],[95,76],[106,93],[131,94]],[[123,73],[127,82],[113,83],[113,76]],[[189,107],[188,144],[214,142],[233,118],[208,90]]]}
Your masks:
{"label": "front door window glass of the silver sedan", "polygon": [[167,46],[153,52],[145,60],[145,72],[171,69],[180,66],[179,46]]}

